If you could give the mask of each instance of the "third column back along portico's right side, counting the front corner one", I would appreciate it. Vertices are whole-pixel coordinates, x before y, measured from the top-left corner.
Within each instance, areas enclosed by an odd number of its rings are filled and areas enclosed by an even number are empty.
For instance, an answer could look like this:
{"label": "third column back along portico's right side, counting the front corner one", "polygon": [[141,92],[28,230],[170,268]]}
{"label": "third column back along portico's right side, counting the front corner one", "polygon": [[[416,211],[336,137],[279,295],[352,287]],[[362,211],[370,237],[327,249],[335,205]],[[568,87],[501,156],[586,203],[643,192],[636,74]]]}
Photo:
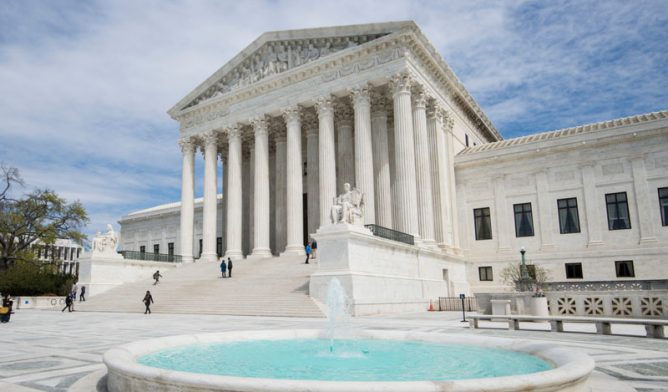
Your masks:
{"label": "third column back along portico's right side, counting the front corner one", "polygon": [[427,108],[427,131],[429,134],[429,163],[433,192],[434,239],[439,247],[447,249],[448,199],[446,198],[447,176],[445,175],[447,156],[440,110],[434,101],[429,103]]}

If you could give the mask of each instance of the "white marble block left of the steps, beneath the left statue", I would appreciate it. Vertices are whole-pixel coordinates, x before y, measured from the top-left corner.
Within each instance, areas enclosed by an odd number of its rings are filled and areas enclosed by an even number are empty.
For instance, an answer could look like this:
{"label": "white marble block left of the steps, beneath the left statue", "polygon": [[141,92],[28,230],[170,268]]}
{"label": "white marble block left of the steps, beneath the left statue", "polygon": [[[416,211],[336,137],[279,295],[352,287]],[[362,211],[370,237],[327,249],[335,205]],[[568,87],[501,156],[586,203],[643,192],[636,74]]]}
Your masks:
{"label": "white marble block left of the steps, beneath the left statue", "polygon": [[156,270],[178,268],[181,263],[167,263],[119,257],[79,259],[79,285],[86,286],[86,296],[93,297],[125,283],[150,279]]}

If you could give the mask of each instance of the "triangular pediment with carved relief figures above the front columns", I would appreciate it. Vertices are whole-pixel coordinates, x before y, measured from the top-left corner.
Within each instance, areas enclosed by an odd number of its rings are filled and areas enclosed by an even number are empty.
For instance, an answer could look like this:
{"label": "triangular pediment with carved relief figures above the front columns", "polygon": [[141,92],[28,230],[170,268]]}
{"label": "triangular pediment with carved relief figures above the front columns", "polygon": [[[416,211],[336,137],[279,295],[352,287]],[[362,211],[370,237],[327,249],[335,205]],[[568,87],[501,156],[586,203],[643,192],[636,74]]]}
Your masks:
{"label": "triangular pediment with carved relief figures above the front columns", "polygon": [[414,22],[407,21],[264,33],[177,103],[170,113],[414,26]]}

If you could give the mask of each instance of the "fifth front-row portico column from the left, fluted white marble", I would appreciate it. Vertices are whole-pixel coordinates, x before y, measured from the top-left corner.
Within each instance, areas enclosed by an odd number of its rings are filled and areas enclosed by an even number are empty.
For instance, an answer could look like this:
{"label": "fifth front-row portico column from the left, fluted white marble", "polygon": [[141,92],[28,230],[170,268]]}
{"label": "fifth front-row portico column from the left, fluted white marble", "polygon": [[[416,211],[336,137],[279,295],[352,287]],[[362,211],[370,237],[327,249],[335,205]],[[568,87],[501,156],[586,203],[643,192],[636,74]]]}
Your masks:
{"label": "fifth front-row portico column from the left, fluted white marble", "polygon": [[298,106],[283,111],[287,126],[287,194],[286,212],[288,244],[285,253],[304,254],[304,204],[302,199],[302,123]]}

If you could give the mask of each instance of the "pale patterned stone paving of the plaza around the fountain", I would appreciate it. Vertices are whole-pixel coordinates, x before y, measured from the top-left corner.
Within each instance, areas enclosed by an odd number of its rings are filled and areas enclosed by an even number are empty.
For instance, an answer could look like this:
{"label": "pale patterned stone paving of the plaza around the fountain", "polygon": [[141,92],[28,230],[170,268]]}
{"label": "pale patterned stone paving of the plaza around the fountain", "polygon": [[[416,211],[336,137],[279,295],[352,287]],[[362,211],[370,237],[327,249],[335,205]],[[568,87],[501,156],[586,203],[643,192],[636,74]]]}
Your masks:
{"label": "pale patterned stone paving of the plaza around the fountain", "polygon": [[[455,312],[365,317],[352,321],[362,329],[481,334],[535,339],[572,347],[596,360],[595,391],[668,391],[668,339],[647,339],[642,328],[621,327],[600,336],[593,326],[567,325],[572,333],[550,333],[547,325],[523,324],[507,331],[500,323],[469,330]],[[0,391],[95,391],[104,371],[102,354],[109,348],[140,339],[228,330],[324,328],[323,319],[148,315],[141,313],[61,313],[21,310],[0,325]],[[91,381],[92,380],[92,381]]]}

